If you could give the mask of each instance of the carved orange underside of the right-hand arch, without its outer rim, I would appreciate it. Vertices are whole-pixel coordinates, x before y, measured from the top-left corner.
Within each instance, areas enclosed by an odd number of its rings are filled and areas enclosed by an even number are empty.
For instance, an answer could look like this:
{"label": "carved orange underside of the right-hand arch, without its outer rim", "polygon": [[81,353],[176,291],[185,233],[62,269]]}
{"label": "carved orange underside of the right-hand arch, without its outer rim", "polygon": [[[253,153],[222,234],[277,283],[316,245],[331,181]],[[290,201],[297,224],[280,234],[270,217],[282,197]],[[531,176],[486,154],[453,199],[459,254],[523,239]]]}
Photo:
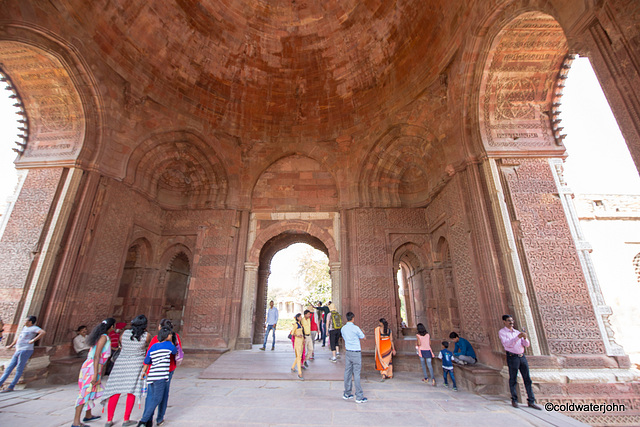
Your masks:
{"label": "carved orange underside of the right-hand arch, without its outer rim", "polygon": [[551,104],[567,49],[562,28],[548,15],[524,14],[500,32],[480,89],[488,150],[555,146]]}

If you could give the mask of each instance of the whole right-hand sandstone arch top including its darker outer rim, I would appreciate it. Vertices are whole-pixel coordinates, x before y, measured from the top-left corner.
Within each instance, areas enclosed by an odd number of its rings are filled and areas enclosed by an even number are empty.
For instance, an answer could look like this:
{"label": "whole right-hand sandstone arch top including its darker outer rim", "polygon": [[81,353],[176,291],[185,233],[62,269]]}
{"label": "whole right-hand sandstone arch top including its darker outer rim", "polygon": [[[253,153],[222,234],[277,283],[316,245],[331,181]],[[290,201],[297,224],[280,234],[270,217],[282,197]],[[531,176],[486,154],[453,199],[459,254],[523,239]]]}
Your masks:
{"label": "whole right-hand sandstone arch top including its darker outer rim", "polygon": [[557,102],[568,44],[557,17],[549,2],[515,2],[480,26],[467,104],[476,153],[564,154]]}

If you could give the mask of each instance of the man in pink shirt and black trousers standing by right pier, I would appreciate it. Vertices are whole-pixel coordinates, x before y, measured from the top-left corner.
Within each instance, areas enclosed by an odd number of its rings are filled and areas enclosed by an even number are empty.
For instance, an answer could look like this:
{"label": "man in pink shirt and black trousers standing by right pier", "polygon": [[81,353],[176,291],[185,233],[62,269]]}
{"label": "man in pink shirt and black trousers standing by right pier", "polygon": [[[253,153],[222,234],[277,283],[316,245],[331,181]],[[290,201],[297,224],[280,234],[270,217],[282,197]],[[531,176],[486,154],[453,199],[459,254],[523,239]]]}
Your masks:
{"label": "man in pink shirt and black trousers standing by right pier", "polygon": [[536,398],[531,388],[531,377],[529,376],[529,364],[524,356],[524,348],[529,347],[529,340],[526,332],[520,332],[513,327],[513,317],[510,314],[502,316],[504,328],[500,329],[498,335],[502,346],[507,352],[507,366],[509,367],[509,389],[511,390],[511,405],[518,407],[518,370],[522,374],[524,387],[527,389],[527,403],[530,408],[542,409],[536,405]]}

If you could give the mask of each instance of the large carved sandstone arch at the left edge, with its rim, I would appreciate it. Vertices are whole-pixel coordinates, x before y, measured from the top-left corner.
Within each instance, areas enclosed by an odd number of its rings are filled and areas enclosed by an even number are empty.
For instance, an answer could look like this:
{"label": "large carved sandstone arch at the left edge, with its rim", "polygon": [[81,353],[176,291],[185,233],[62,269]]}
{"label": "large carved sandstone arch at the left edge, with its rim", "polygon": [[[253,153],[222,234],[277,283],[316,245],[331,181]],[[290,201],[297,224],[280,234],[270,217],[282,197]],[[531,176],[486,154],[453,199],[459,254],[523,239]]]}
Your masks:
{"label": "large carved sandstone arch at the left edge, with its rim", "polygon": [[0,64],[29,121],[27,145],[16,167],[92,167],[101,149],[102,102],[75,48],[41,28],[4,22]]}

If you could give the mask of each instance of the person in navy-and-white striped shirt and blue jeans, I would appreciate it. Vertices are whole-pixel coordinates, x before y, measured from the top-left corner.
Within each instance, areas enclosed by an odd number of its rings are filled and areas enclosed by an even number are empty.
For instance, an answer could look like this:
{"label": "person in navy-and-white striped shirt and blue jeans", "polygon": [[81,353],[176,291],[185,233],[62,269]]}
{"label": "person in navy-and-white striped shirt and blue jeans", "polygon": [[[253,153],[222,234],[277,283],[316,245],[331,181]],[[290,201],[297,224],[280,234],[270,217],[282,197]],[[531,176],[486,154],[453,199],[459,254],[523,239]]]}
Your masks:
{"label": "person in navy-and-white striped shirt and blue jeans", "polygon": [[148,392],[144,403],[144,413],[138,426],[151,426],[153,413],[164,396],[164,390],[169,380],[171,355],[176,354],[176,347],[171,342],[171,329],[162,328],[158,331],[158,342],[152,345],[144,358],[144,364],[149,366],[142,370],[142,378],[147,377]]}

